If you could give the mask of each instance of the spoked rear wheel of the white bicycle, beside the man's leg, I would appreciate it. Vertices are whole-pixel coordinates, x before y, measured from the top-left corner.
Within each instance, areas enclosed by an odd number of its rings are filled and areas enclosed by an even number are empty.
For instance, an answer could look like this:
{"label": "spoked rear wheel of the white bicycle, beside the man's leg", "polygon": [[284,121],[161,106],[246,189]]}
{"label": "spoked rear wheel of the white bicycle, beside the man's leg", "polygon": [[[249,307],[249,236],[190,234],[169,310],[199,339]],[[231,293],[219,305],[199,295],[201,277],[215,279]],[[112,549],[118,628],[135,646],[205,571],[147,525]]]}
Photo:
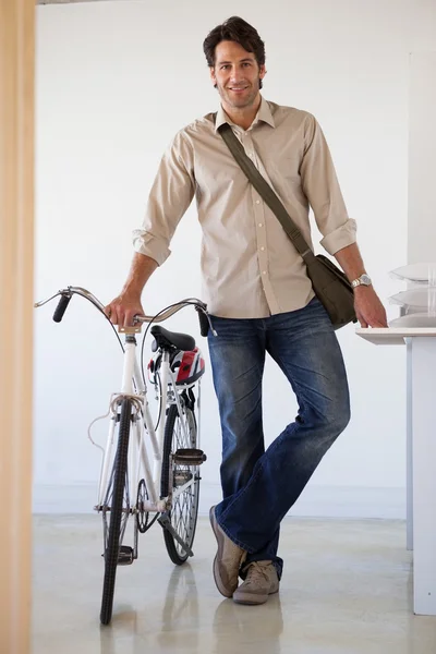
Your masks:
{"label": "spoked rear wheel of the white bicycle, beside the man's leg", "polygon": [[[183,428],[184,427],[184,428]],[[169,494],[171,455],[178,449],[197,448],[197,425],[192,409],[184,405],[180,416],[175,404],[171,404],[167,415],[164,435],[161,494]],[[183,465],[172,462],[172,492],[189,484],[172,501],[169,519],[172,528],[191,548],[194,542],[198,514],[199,471],[198,465]],[[173,564],[181,566],[189,555],[169,531],[164,530],[167,552]]]}

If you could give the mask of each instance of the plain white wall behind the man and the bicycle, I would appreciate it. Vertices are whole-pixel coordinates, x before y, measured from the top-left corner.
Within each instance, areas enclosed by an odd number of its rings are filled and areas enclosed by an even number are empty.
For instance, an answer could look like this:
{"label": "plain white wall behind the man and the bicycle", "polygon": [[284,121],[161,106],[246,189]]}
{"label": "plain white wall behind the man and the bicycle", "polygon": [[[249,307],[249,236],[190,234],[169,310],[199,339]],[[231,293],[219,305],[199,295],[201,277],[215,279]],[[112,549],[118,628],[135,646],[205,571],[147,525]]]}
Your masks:
{"label": "plain white wall behind the man and the bicycle", "polygon": [[[202,52],[207,32],[239,14],[266,41],[264,95],[315,113],[332,150],[359,242],[380,296],[407,256],[409,52],[428,39],[428,7],[408,1],[247,0],[98,2],[37,8],[36,298],[89,288],[104,302],[120,289],[131,231],[165,146],[218,97]],[[417,12],[417,13],[416,13]],[[433,16],[433,14],[432,14]],[[432,17],[431,16],[431,17]],[[435,21],[436,23],[436,21]],[[199,229],[191,207],[173,254],[144,294],[148,313],[199,293]],[[99,455],[88,423],[118,389],[120,351],[100,316],[74,299],[61,326],[36,314],[35,508],[86,510]],[[168,325],[195,330],[185,312]],[[339,334],[353,420],[295,506],[306,514],[402,516],[404,352],[377,349],[353,328]],[[201,341],[206,350],[206,342]],[[265,376],[268,443],[295,413],[281,374]],[[204,384],[203,504],[219,498],[220,429],[210,376]],[[96,432],[96,434],[104,432]]]}

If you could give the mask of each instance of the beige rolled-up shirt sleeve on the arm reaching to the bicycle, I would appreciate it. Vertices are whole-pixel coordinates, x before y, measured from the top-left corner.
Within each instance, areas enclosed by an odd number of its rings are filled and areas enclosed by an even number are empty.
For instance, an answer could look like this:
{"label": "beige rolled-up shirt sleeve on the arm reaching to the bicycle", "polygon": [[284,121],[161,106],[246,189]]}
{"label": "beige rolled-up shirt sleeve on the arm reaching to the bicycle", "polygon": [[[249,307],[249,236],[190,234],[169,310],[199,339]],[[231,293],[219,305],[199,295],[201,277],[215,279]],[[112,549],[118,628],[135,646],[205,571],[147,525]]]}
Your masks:
{"label": "beige rolled-up shirt sleeve on the arm reaching to the bicycle", "polygon": [[194,193],[192,148],[179,132],[160,161],[143,225],[133,231],[135,251],[161,266],[171,253],[171,239]]}

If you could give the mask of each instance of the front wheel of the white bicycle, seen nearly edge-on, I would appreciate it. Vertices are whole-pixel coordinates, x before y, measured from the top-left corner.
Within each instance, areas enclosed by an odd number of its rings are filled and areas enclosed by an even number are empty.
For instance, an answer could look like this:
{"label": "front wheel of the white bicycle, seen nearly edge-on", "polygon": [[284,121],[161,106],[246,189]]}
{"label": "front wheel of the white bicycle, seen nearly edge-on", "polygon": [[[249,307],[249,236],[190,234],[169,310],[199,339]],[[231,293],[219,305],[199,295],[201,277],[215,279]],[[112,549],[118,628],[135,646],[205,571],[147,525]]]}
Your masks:
{"label": "front wheel of the white bicycle, seen nearly edge-on", "polygon": [[[130,514],[128,452],[131,423],[132,402],[131,400],[123,400],[121,404],[117,455],[104,507],[105,579],[100,611],[101,625],[109,625],[112,618],[117,566],[125,524]],[[106,524],[107,514],[109,514],[109,526]]]}

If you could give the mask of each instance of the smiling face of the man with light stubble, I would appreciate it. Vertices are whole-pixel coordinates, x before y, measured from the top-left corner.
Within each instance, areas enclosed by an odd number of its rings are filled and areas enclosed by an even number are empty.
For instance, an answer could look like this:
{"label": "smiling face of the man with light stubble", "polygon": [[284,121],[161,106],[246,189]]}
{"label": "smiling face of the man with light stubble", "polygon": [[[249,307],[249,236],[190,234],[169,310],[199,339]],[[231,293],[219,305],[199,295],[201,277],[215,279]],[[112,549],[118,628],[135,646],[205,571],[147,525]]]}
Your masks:
{"label": "smiling face of the man with light stubble", "polygon": [[229,108],[243,109],[255,105],[259,81],[265,72],[265,66],[257,64],[254,53],[234,41],[221,41],[215,48],[215,66],[210,69],[210,77],[223,105]]}

